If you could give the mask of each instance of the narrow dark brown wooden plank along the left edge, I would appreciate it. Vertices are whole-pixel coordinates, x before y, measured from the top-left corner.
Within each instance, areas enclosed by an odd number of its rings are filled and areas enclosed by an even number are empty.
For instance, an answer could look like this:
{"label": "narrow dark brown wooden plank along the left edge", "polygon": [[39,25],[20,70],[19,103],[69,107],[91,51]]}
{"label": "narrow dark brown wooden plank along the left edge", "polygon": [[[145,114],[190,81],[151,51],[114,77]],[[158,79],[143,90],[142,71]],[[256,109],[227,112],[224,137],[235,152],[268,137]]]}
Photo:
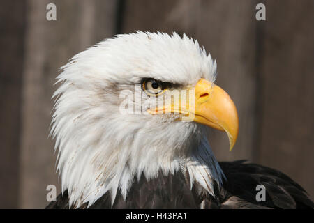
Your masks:
{"label": "narrow dark brown wooden plank along the left edge", "polygon": [[25,1],[0,7],[0,208],[17,208]]}

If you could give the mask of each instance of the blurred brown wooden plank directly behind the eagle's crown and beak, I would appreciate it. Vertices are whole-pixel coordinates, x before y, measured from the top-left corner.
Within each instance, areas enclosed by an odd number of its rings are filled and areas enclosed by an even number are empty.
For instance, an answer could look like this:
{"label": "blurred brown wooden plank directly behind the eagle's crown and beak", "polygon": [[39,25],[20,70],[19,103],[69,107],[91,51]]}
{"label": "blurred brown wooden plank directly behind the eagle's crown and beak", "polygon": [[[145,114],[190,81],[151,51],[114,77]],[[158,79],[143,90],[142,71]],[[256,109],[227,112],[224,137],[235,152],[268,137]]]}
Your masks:
{"label": "blurred brown wooden plank directly behind the eagle's crown and beak", "polygon": [[212,131],[211,147],[218,160],[253,159],[256,132],[255,1],[131,1],[126,0],[124,33],[165,31],[186,33],[218,62],[218,85],[237,105],[240,133],[234,150],[227,136]]}

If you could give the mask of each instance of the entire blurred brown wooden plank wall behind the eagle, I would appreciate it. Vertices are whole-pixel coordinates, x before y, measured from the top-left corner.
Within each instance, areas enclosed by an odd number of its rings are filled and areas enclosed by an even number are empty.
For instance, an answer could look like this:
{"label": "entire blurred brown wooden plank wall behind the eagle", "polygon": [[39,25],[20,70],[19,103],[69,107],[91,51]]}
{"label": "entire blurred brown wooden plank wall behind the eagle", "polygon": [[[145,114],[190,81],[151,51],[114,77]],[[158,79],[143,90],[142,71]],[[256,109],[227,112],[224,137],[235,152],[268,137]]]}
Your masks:
{"label": "entire blurred brown wooden plank wall behind the eagle", "polygon": [[[47,21],[47,3],[57,21]],[[257,3],[266,21],[255,20]],[[58,68],[117,33],[164,31],[199,40],[239,110],[239,141],[209,136],[218,160],[288,174],[314,199],[314,1],[19,0],[0,7],[0,208],[44,208],[58,185],[48,139]]]}

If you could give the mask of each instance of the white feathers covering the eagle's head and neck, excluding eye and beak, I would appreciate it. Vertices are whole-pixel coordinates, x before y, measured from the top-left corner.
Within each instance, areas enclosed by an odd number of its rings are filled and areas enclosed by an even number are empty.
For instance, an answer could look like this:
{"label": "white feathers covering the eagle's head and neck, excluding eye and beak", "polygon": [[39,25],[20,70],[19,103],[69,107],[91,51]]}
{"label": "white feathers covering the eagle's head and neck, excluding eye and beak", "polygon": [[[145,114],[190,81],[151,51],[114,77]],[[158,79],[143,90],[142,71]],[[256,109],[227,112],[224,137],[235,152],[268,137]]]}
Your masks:
{"label": "white feathers covering the eagle's head and neck, excluding eye and beak", "polygon": [[[104,40],[70,60],[52,116],[57,170],[70,206],[93,204],[105,192],[124,197],[134,177],[149,180],[175,171],[190,174],[214,196],[223,172],[207,141],[207,127],[167,115],[121,114],[119,93],[142,78],[195,85],[214,82],[216,62],[196,40],[177,33],[131,33]],[[148,100],[148,99],[147,99]]]}

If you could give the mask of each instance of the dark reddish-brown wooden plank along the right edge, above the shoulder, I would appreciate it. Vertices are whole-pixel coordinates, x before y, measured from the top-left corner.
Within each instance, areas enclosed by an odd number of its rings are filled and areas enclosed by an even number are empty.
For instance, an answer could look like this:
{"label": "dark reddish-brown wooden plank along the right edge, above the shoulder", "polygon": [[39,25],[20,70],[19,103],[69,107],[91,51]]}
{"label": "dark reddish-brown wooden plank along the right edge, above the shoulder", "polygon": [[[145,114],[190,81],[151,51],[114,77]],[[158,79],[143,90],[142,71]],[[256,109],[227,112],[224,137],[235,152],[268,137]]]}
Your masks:
{"label": "dark reddish-brown wooden plank along the right edge, above the shoulder", "polygon": [[258,162],[314,199],[314,1],[267,1]]}

